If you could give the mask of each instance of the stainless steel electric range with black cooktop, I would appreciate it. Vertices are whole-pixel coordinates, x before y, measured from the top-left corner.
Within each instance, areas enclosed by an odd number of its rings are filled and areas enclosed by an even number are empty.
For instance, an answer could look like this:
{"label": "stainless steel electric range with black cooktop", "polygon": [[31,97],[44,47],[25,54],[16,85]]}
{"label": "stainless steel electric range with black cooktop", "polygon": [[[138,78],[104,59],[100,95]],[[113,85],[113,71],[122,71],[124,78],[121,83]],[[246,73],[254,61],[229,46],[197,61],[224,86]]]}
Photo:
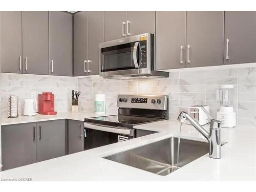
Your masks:
{"label": "stainless steel electric range with black cooktop", "polygon": [[168,95],[118,95],[118,115],[84,119],[84,150],[136,137],[135,125],[168,119]]}

